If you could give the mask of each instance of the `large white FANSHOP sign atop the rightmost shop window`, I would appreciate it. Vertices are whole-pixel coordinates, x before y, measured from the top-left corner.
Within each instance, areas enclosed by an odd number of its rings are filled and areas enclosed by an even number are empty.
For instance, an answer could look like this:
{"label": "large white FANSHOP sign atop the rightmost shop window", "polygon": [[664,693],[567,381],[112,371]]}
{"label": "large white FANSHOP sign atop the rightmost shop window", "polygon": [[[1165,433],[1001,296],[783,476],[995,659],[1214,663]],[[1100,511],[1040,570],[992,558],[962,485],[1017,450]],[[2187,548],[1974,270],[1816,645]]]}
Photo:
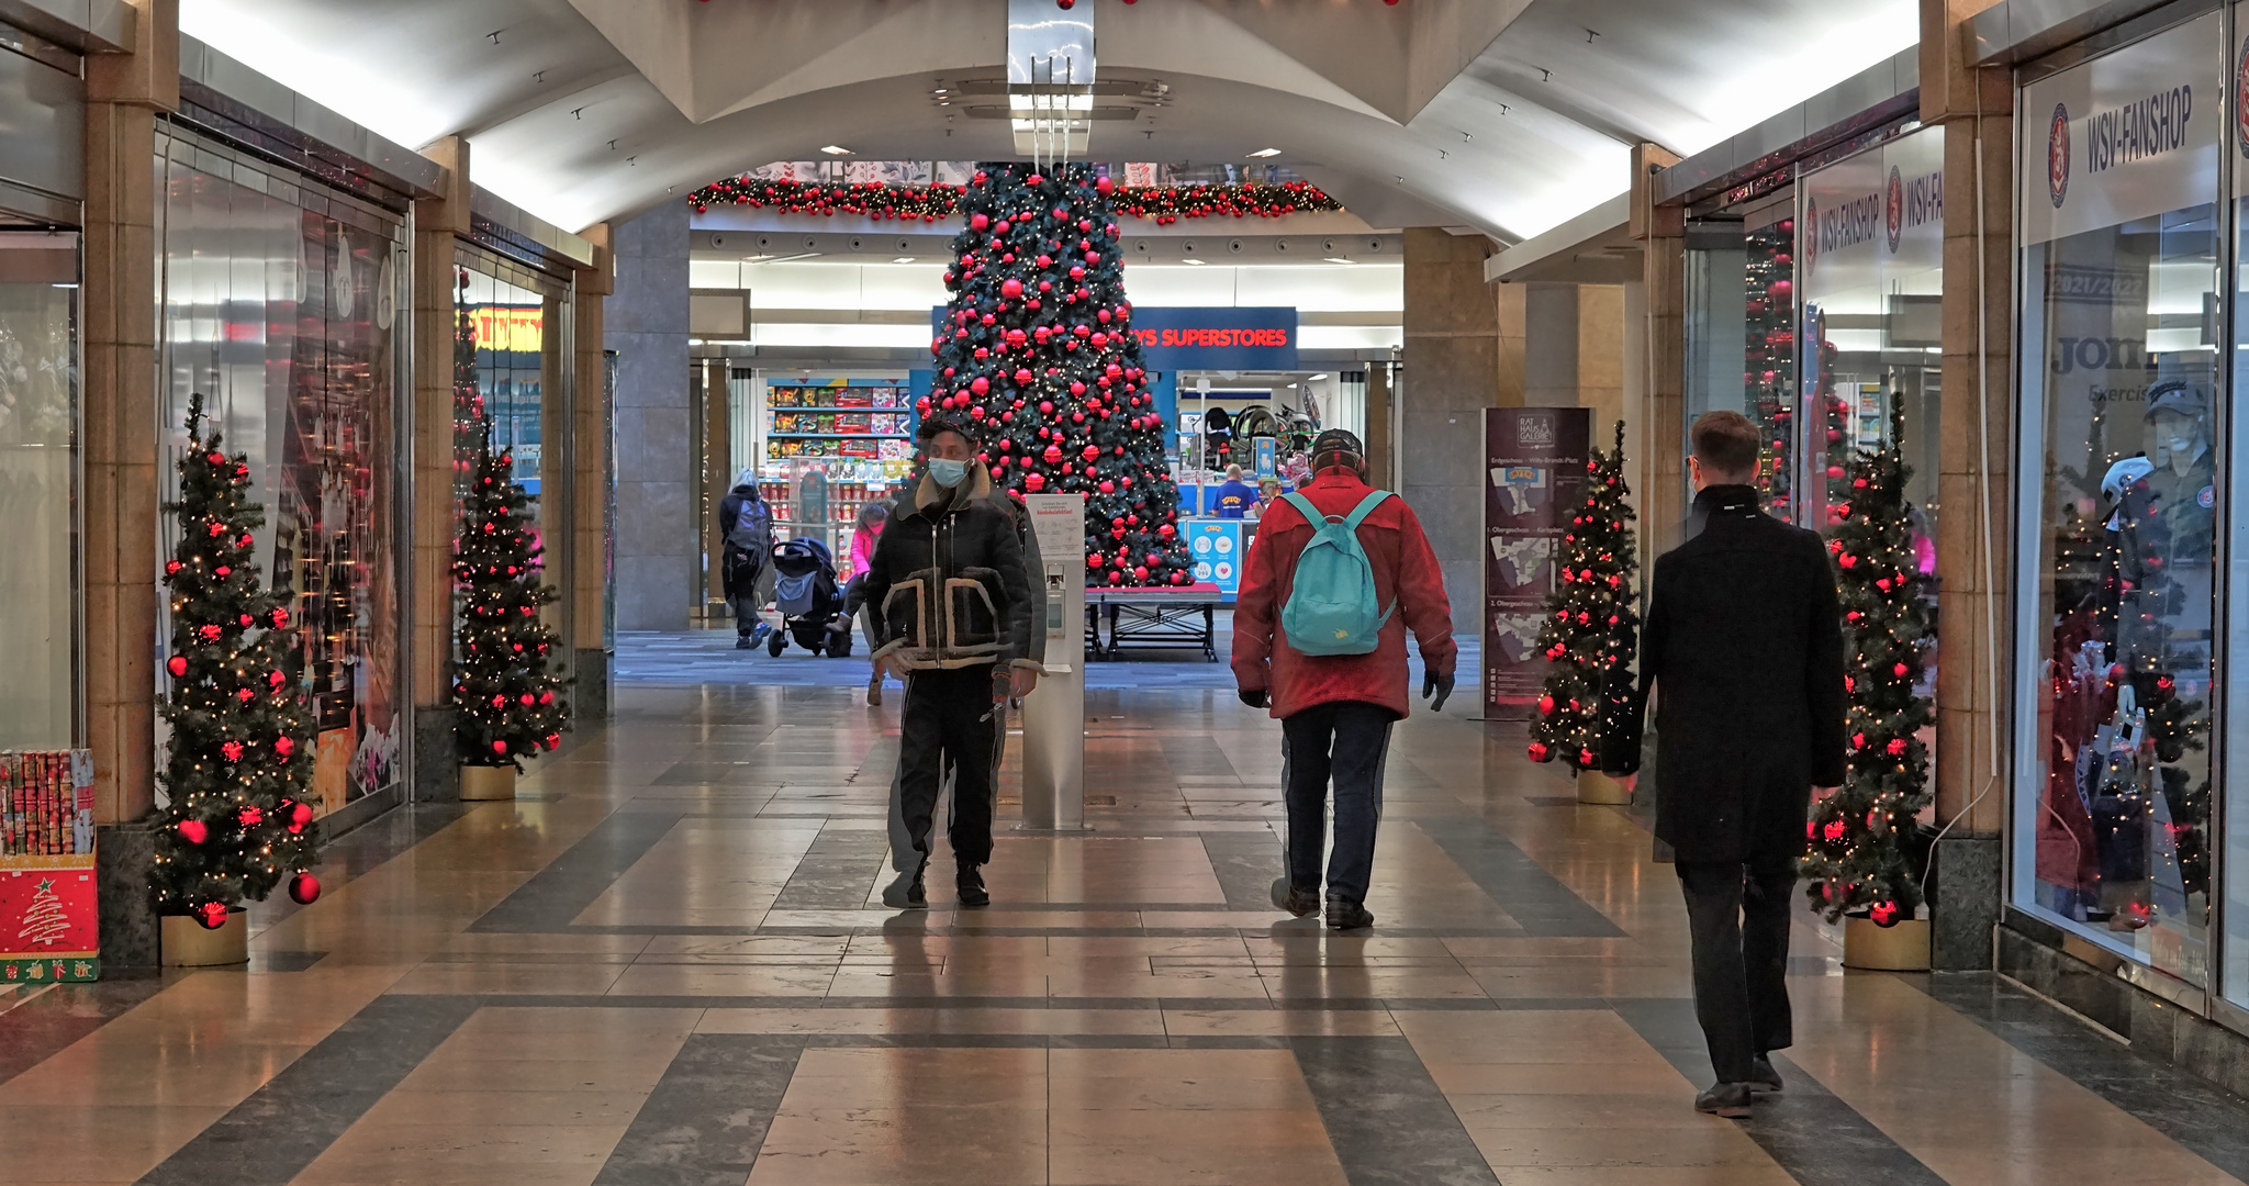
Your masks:
{"label": "large white FANSHOP sign atop the rightmost shop window", "polygon": [[2233,142],[2220,14],[2022,88],[2022,241],[2152,218],[2218,194]]}

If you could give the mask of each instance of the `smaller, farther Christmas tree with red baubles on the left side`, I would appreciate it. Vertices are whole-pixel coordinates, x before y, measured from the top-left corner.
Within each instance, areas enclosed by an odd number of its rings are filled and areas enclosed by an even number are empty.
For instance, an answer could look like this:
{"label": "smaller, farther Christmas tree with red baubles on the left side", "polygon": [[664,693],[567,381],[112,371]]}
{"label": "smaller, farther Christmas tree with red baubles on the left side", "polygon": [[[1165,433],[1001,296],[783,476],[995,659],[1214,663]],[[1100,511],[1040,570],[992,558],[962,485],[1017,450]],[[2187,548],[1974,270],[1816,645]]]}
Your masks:
{"label": "smaller, farther Christmas tree with red baubles on the left side", "polygon": [[526,754],[562,743],[569,702],[560,695],[564,680],[553,673],[558,637],[540,621],[540,605],[556,592],[540,583],[531,495],[513,470],[511,455],[493,452],[486,425],[452,554],[461,605],[452,700],[461,763],[522,770]]}

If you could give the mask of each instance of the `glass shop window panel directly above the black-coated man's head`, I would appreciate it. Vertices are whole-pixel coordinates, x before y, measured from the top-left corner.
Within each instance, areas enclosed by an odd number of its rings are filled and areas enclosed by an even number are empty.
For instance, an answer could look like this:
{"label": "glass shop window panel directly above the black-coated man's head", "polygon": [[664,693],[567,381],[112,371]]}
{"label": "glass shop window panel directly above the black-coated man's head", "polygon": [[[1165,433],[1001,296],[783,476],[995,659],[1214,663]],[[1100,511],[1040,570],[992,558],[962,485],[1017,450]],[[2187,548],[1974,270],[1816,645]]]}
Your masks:
{"label": "glass shop window panel directly above the black-coated man's head", "polygon": [[1687,225],[1687,421],[1732,410],[1765,434],[1756,488],[1795,518],[1795,198],[1765,196]]}

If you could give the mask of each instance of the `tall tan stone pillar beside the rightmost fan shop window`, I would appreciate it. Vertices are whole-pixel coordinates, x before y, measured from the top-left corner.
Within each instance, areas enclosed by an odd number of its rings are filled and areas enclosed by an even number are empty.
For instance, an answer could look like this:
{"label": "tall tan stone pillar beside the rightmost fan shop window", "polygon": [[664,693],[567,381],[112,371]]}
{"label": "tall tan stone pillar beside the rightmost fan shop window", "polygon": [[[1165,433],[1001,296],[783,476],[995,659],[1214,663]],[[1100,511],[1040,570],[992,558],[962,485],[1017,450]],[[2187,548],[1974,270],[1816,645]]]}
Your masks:
{"label": "tall tan stone pillar beside the rightmost fan shop window", "polygon": [[[2008,803],[2013,506],[2013,83],[1977,68],[1966,25],[1993,0],[1923,0],[1921,122],[1945,128],[1943,410],[1939,443],[1936,853],[1932,961],[1993,965]],[[1981,117],[1977,115],[1981,110]],[[1984,189],[1977,196],[1981,158]]]}

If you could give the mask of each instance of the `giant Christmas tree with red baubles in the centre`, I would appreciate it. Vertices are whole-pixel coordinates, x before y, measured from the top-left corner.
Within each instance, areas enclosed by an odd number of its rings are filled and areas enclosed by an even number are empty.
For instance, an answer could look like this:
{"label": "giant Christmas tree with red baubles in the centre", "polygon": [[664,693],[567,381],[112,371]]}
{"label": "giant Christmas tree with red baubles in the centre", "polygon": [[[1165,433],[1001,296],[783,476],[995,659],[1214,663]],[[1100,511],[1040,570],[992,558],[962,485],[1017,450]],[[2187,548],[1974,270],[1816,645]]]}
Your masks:
{"label": "giant Christmas tree with red baubles in the centre", "polygon": [[936,389],[922,412],[976,425],[1003,488],[1086,497],[1086,581],[1185,585],[1178,486],[1129,333],[1109,178],[983,164],[960,196]]}

